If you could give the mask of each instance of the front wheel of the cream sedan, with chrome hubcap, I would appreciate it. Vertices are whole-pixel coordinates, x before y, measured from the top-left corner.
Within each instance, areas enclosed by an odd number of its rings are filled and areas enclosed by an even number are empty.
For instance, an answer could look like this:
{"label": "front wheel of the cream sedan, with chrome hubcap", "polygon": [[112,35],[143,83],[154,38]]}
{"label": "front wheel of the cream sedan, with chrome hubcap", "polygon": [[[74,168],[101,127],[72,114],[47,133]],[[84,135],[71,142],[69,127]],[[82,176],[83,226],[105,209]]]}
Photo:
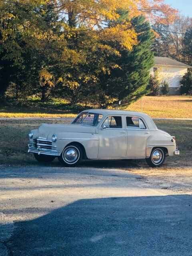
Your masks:
{"label": "front wheel of the cream sedan, with chrome hubcap", "polygon": [[76,166],[82,159],[82,150],[78,145],[69,145],[64,148],[58,160],[63,166]]}

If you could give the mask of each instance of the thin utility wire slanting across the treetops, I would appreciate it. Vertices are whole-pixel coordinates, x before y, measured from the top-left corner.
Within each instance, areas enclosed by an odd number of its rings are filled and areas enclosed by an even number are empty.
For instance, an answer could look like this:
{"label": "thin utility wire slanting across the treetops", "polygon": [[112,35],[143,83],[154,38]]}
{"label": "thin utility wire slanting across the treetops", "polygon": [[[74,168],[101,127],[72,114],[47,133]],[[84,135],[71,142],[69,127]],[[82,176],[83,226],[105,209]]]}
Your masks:
{"label": "thin utility wire slanting across the treetops", "polygon": [[[16,5],[18,4],[18,5],[21,5],[21,6],[32,7],[32,8],[35,8],[35,9],[42,9],[42,10],[47,10],[47,11],[51,11],[51,12],[57,12],[57,13],[66,14],[66,15],[69,14],[71,16],[76,16],[76,17],[80,17],[80,18],[84,18],[84,19],[103,21],[103,22],[112,22],[114,24],[126,24],[126,23],[123,23],[123,22],[116,22],[114,20],[103,20],[103,19],[100,19],[100,18],[97,19],[97,18],[92,18],[92,17],[86,17],[86,16],[79,15],[79,14],[72,14],[72,13],[68,13],[68,12],[48,9],[48,8],[45,8],[45,7],[38,7],[38,6],[30,5],[30,4],[22,4],[22,3],[18,3],[18,2],[15,2],[15,1],[11,1],[11,0],[0,0],[0,1],[11,3],[11,4],[16,4]],[[158,28],[152,28],[152,29],[156,30],[156,31],[160,31],[160,32],[168,32],[168,33],[173,33],[173,34],[185,35],[185,33],[181,33],[181,32],[174,32],[174,31],[169,31],[169,30],[161,30],[161,29],[158,29]]]}

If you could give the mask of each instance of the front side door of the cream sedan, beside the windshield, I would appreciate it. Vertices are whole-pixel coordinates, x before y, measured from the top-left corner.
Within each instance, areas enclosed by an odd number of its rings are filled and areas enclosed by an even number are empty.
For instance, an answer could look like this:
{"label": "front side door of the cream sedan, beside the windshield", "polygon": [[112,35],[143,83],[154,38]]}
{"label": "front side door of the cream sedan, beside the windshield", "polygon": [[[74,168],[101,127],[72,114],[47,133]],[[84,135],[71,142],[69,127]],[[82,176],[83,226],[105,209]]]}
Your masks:
{"label": "front side door of the cream sedan, beside the windshield", "polygon": [[98,158],[123,158],[126,156],[126,130],[123,116],[107,116],[98,129],[98,134]]}

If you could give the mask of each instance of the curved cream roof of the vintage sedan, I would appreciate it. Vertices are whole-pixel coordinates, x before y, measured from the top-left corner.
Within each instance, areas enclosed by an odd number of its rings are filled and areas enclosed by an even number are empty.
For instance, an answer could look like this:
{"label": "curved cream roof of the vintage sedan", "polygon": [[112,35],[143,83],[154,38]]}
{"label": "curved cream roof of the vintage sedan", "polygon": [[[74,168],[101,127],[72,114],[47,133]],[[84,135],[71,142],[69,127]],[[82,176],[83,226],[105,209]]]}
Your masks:
{"label": "curved cream roof of the vintage sedan", "polygon": [[134,112],[134,111],[127,111],[127,110],[115,110],[115,109],[86,109],[82,112],[91,112],[91,113],[97,113],[102,114],[104,116],[106,115],[129,115],[129,116],[140,116],[144,118],[149,130],[158,130],[156,124],[153,122],[153,120],[148,116],[147,114],[144,114],[142,112]]}

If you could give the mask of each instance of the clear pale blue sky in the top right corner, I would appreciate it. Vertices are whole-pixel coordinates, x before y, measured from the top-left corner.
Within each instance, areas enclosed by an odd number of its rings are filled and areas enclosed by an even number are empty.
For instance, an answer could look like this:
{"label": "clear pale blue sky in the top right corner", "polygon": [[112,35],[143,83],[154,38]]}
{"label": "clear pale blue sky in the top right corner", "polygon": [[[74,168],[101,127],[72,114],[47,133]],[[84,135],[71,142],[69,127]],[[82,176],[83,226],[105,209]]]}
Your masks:
{"label": "clear pale blue sky in the top right corner", "polygon": [[181,14],[192,17],[192,0],[164,0],[164,2],[178,9]]}

